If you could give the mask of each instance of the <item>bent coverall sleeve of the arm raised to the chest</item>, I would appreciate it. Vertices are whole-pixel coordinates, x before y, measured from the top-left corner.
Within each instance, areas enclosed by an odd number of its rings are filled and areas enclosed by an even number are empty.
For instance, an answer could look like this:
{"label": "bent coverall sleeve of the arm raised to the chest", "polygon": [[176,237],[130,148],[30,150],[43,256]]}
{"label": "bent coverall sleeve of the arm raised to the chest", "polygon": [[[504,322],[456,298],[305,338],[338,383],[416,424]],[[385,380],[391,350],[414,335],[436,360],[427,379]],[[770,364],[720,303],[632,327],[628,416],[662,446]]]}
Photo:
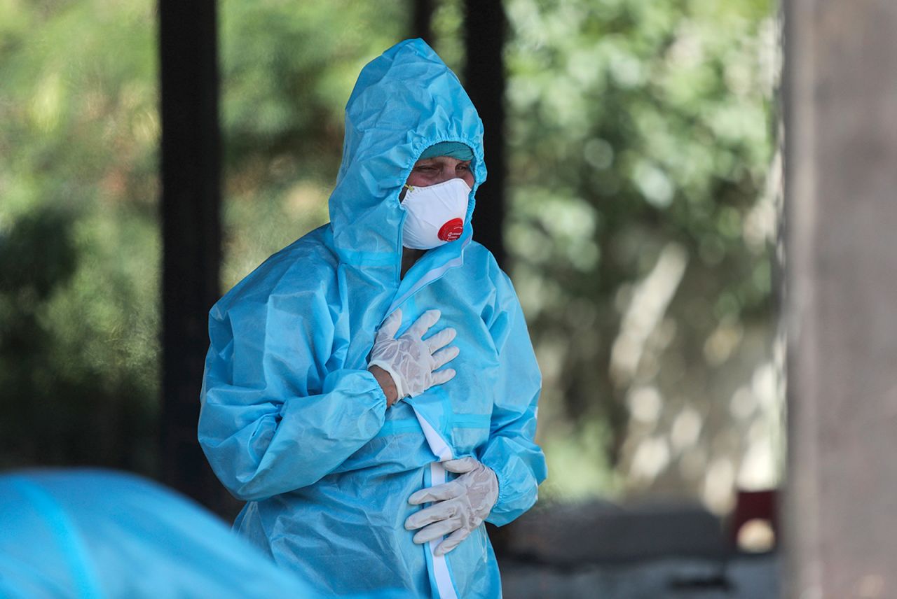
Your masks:
{"label": "bent coverall sleeve of the arm raised to the chest", "polygon": [[328,368],[348,345],[337,312],[312,292],[222,299],[210,312],[198,436],[238,499],[317,482],[383,426],[387,400],[373,375]]}

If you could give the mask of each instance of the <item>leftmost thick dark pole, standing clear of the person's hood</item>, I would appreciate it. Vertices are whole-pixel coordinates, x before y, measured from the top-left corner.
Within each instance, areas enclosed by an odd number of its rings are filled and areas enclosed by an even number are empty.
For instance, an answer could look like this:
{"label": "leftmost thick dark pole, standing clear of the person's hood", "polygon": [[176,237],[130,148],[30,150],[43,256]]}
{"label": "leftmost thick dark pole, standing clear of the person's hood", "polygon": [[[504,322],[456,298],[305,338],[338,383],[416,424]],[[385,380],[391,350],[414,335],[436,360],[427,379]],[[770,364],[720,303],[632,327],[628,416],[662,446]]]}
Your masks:
{"label": "leftmost thick dark pole, standing clear of the person's hood", "polygon": [[221,254],[214,0],[160,0],[162,410],[165,483],[213,508],[221,485],[196,441]]}

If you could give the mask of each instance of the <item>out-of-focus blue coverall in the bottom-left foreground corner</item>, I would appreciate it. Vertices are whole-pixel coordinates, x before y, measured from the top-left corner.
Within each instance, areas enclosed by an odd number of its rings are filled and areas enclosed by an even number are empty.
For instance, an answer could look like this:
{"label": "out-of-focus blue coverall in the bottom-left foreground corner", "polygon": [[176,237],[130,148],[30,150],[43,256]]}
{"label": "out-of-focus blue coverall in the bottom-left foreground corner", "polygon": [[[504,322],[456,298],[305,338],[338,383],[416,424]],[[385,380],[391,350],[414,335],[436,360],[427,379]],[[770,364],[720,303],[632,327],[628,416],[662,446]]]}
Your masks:
{"label": "out-of-focus blue coverall in the bottom-left foreground corner", "polygon": [[157,483],[104,470],[0,475],[0,597],[319,596]]}

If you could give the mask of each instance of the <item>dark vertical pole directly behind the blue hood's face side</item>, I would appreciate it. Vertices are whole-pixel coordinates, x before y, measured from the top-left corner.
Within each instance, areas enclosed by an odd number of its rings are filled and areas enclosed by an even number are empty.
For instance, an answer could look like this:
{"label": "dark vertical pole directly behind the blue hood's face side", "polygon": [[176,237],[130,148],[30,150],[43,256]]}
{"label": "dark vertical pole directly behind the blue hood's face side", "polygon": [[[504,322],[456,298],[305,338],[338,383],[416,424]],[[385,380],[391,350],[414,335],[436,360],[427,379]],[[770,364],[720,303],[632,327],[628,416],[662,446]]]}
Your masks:
{"label": "dark vertical pole directly behind the blue hood's face side", "polygon": [[475,239],[485,245],[502,268],[505,195],[504,50],[507,21],[501,0],[465,0],[465,89],[485,126],[489,179],[476,193]]}

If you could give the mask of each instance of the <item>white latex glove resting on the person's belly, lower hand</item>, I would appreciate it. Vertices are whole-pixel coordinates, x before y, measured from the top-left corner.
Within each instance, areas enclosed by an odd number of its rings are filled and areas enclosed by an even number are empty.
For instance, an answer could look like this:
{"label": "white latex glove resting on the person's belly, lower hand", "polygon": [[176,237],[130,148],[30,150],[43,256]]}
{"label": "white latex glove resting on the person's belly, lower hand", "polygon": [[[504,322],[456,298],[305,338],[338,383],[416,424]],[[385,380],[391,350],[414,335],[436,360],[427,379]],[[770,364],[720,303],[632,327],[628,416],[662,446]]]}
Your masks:
{"label": "white latex glove resting on the person's belly, lower hand", "polygon": [[499,481],[492,468],[483,466],[475,458],[449,459],[442,462],[442,466],[460,476],[449,483],[414,492],[408,503],[435,503],[405,520],[408,530],[425,526],[414,535],[414,543],[429,543],[448,535],[448,539],[436,547],[433,552],[436,555],[445,555],[455,549],[483,524],[499,497]]}

